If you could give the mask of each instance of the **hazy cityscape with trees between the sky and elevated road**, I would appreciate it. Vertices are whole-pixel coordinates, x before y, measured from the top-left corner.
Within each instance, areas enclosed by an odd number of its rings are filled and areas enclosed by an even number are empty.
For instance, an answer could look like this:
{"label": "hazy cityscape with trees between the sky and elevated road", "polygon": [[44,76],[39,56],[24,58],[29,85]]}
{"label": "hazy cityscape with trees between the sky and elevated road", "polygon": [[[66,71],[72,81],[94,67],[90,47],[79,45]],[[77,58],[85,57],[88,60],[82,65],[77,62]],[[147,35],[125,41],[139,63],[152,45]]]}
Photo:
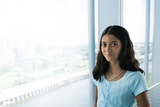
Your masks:
{"label": "hazy cityscape with trees between the sky and elevated road", "polygon": [[[31,36],[1,36],[0,40],[0,89],[89,68],[87,44],[51,46],[36,43]],[[143,61],[144,44],[134,44],[134,49],[136,58]]]}

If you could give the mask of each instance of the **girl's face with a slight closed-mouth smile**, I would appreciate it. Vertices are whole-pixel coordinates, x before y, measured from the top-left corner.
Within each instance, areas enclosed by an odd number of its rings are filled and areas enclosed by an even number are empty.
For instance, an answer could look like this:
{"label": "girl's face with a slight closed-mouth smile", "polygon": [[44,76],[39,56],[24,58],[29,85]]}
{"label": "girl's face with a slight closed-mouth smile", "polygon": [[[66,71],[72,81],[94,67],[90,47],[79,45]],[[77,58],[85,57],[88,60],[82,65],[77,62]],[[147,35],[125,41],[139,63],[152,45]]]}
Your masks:
{"label": "girl's face with a slight closed-mouth smile", "polygon": [[[108,62],[116,63],[121,51],[121,41],[114,35],[105,34],[101,40],[101,51]],[[119,62],[119,61],[118,61]]]}

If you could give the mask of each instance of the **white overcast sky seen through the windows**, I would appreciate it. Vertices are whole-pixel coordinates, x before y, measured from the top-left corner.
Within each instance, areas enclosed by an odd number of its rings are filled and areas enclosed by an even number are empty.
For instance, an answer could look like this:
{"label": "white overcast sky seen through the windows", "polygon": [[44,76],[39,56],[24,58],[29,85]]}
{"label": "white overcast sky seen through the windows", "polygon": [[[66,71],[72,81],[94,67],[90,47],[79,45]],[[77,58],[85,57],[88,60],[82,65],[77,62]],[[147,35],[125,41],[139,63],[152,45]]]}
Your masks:
{"label": "white overcast sky seen through the windows", "polygon": [[[144,42],[145,0],[125,0],[124,6],[131,39]],[[0,0],[0,34],[49,45],[87,44],[88,0]]]}

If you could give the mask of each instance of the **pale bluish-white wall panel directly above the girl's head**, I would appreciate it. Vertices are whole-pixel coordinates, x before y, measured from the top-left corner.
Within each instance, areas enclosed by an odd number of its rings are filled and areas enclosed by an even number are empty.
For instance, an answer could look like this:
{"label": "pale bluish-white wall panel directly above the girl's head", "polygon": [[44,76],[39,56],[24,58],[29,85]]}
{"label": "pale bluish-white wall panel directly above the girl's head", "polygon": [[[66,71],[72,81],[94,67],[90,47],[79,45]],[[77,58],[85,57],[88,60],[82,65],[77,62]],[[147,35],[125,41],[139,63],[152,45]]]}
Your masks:
{"label": "pale bluish-white wall panel directly above the girl's head", "polygon": [[120,25],[119,0],[98,0],[98,36],[110,25]]}

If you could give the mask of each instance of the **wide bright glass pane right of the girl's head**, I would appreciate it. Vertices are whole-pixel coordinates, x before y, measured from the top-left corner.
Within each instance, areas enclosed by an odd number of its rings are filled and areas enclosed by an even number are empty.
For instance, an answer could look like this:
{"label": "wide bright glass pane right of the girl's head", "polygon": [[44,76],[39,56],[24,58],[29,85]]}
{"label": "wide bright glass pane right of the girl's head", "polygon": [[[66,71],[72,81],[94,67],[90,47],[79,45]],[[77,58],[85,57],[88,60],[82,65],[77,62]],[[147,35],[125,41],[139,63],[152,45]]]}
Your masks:
{"label": "wide bright glass pane right of the girl's head", "polygon": [[145,53],[145,0],[124,0],[123,26],[128,30],[134,45],[135,56],[144,69]]}

